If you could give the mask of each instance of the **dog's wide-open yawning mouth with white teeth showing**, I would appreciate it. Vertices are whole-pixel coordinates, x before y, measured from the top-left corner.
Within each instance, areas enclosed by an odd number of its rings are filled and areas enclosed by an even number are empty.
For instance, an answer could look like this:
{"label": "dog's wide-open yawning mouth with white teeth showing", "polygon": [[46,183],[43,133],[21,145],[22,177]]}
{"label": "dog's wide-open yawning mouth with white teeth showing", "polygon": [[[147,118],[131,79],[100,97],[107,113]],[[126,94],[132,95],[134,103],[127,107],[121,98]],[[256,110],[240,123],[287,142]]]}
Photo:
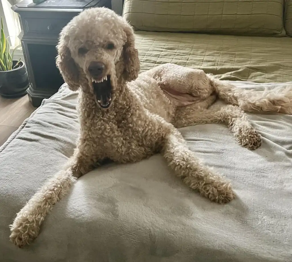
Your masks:
{"label": "dog's wide-open yawning mouth with white teeth showing", "polygon": [[112,85],[110,83],[110,75],[106,75],[100,80],[95,80],[92,78],[91,81],[97,103],[102,108],[108,108],[112,103]]}

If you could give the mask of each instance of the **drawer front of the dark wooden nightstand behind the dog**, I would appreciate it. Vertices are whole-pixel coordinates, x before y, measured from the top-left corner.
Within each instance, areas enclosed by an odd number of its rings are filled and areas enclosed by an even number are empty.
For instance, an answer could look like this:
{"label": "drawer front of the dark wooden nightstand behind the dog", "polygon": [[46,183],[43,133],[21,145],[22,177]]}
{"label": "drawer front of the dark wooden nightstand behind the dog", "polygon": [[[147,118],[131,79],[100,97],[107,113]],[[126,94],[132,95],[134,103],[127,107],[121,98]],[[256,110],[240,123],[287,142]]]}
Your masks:
{"label": "drawer front of the dark wooden nightstand behind the dog", "polygon": [[25,31],[29,34],[58,35],[70,19],[25,18]]}

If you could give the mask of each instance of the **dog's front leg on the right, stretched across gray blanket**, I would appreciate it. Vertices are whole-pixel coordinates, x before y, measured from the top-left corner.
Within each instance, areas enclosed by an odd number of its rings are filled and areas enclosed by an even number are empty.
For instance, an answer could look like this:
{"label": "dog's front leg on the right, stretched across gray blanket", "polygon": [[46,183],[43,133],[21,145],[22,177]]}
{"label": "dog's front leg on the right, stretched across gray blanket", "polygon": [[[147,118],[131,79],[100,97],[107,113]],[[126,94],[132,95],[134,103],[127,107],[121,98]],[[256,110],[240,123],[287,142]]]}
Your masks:
{"label": "dog's front leg on the right, stretched across gray blanket", "polygon": [[168,165],[190,188],[217,203],[228,203],[235,197],[230,183],[201,163],[176,129],[166,135],[162,148]]}

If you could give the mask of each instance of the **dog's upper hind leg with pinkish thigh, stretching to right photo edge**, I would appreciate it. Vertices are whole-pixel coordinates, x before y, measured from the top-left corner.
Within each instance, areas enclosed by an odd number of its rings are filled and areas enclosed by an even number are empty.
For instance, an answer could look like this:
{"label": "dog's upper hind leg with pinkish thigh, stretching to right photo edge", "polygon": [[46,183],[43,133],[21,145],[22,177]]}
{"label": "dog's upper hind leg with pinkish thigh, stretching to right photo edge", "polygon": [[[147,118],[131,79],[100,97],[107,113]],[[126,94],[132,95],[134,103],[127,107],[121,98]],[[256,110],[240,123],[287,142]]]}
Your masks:
{"label": "dog's upper hind leg with pinkish thigh, stretching to right photo edge", "polygon": [[169,63],[154,67],[147,74],[157,80],[177,106],[190,105],[216,92],[225,103],[237,105],[245,112],[292,114],[291,84],[264,91],[246,90],[215,79],[203,70]]}

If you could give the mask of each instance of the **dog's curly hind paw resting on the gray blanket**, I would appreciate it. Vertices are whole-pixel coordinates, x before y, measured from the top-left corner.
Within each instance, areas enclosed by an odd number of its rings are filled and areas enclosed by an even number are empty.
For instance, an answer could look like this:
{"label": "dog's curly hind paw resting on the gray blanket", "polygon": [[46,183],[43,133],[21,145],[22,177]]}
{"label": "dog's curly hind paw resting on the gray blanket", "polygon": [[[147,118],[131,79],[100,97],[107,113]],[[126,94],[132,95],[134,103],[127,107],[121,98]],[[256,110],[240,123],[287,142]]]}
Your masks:
{"label": "dog's curly hind paw resting on the gray blanket", "polygon": [[241,126],[237,130],[237,143],[249,150],[258,149],[262,145],[260,134],[251,126]]}

